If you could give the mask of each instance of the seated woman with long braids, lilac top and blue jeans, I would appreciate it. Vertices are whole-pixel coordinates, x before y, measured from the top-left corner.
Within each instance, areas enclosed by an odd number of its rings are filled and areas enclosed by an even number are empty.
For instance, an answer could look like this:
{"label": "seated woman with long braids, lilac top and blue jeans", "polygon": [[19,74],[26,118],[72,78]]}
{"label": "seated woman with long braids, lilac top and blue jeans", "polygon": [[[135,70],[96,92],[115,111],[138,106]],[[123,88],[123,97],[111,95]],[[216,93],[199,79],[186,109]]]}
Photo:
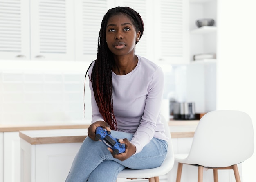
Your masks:
{"label": "seated woman with long braids, lilac top and blue jeans", "polygon": [[[144,30],[140,15],[129,7],[110,9],[101,23],[97,59],[88,68],[92,124],[66,182],[115,182],[123,169],[158,167],[167,154],[160,122],[162,69],[135,55]],[[97,127],[121,138],[125,152],[113,153],[95,141]]]}

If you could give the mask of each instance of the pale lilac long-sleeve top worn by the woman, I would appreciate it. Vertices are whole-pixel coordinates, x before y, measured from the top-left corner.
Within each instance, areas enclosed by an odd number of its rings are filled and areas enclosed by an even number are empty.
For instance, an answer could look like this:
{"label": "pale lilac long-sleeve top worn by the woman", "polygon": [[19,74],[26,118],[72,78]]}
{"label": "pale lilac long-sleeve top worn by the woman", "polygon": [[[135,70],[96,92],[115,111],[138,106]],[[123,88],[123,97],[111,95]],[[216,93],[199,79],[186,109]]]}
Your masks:
{"label": "pale lilac long-sleeve top worn by the woman", "polygon": [[[132,72],[116,75],[112,72],[113,110],[118,131],[132,133],[131,143],[136,153],[155,137],[168,140],[161,123],[160,107],[164,88],[162,69],[144,57],[138,56]],[[92,68],[88,71],[91,75]],[[90,79],[89,79],[90,80]],[[92,99],[92,123],[104,121],[94,98],[92,83],[89,83]]]}

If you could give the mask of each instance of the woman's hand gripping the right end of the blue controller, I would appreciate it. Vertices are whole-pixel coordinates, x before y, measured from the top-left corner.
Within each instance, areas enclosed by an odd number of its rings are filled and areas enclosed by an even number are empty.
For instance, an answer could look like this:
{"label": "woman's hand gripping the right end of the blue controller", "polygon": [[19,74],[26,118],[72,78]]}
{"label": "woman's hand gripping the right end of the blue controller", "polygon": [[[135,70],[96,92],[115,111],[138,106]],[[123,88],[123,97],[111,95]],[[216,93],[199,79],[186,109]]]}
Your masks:
{"label": "woman's hand gripping the right end of the blue controller", "polygon": [[132,156],[133,154],[135,154],[136,147],[135,147],[135,145],[130,143],[130,141],[128,139],[126,139],[126,138],[119,139],[119,142],[125,144],[125,152],[113,155],[113,150],[111,148],[108,148],[108,150],[112,153],[114,158],[124,161],[124,160],[128,159],[130,156]]}

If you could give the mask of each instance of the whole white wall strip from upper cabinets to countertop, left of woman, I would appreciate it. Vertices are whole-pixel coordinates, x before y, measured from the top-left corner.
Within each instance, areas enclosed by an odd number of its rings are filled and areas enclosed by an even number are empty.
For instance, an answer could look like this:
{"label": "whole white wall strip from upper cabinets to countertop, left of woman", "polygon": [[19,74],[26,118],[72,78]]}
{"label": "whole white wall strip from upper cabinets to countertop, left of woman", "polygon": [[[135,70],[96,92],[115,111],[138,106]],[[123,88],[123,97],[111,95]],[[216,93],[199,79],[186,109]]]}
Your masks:
{"label": "whole white wall strip from upper cabinets to countertop, left of woman", "polygon": [[[8,65],[10,64],[10,65]],[[90,119],[87,62],[0,60],[0,124]]]}

